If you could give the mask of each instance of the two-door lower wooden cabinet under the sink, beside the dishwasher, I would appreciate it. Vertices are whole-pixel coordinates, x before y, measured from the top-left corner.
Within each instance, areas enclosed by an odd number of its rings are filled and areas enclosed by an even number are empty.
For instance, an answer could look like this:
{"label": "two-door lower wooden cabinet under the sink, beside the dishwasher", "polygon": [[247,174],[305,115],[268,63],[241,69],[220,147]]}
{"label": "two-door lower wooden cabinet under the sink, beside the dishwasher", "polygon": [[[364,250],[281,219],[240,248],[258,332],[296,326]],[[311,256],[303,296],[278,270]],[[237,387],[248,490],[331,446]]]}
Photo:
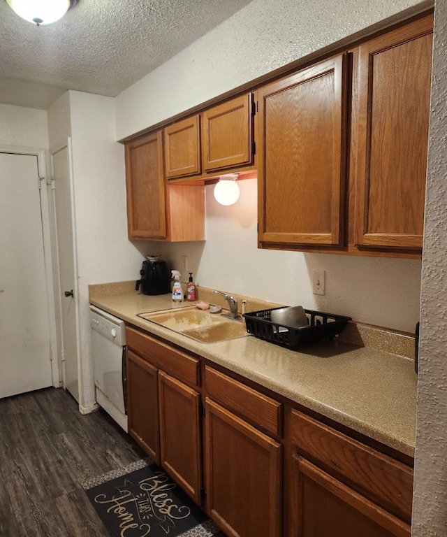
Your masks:
{"label": "two-door lower wooden cabinet under the sink, beside the dishwasher", "polygon": [[130,327],[126,341],[129,434],[201,505],[200,361]]}

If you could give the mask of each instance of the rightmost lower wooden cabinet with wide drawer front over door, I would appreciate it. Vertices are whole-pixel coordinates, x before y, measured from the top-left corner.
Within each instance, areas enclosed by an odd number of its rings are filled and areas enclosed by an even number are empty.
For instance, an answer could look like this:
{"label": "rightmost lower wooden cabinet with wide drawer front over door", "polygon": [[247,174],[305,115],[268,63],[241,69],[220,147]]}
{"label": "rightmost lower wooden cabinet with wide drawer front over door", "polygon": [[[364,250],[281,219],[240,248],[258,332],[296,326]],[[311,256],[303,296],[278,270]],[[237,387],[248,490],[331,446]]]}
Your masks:
{"label": "rightmost lower wooden cabinet with wide drawer front over door", "polygon": [[413,470],[296,410],[290,537],[409,537]]}

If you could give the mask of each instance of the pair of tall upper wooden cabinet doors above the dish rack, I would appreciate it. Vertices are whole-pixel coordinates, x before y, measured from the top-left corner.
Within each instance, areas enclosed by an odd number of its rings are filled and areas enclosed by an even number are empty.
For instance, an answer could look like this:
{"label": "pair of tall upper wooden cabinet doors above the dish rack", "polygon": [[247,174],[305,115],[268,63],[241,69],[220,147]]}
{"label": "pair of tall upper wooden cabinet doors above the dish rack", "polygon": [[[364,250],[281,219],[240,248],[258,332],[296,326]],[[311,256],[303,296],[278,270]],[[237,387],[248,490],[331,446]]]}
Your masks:
{"label": "pair of tall upper wooden cabinet doors above the dish rack", "polygon": [[433,17],[258,90],[260,248],[420,257]]}

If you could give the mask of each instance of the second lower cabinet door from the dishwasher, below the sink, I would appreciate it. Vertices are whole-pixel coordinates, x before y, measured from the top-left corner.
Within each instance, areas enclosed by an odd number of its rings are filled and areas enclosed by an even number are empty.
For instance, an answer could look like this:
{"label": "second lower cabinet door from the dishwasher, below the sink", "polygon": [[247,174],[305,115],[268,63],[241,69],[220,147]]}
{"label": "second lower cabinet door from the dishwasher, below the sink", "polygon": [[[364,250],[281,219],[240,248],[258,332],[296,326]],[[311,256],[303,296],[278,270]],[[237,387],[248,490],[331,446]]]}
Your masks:
{"label": "second lower cabinet door from the dishwasher, below the sink", "polygon": [[161,465],[198,505],[202,503],[200,394],[159,372]]}

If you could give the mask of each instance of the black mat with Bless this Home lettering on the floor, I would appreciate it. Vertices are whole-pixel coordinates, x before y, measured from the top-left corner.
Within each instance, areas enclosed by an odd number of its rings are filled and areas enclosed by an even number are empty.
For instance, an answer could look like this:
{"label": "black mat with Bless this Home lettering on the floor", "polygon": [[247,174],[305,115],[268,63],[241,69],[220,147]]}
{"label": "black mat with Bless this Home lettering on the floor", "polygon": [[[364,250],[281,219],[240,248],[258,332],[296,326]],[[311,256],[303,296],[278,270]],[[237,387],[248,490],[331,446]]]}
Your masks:
{"label": "black mat with Bless this Home lettering on the floor", "polygon": [[[131,465],[132,467],[132,465]],[[133,464],[133,468],[135,464]],[[132,468],[132,469],[133,469]],[[85,492],[112,537],[211,537],[219,532],[189,496],[156,464],[149,464]],[[109,478],[109,480],[107,480]]]}

